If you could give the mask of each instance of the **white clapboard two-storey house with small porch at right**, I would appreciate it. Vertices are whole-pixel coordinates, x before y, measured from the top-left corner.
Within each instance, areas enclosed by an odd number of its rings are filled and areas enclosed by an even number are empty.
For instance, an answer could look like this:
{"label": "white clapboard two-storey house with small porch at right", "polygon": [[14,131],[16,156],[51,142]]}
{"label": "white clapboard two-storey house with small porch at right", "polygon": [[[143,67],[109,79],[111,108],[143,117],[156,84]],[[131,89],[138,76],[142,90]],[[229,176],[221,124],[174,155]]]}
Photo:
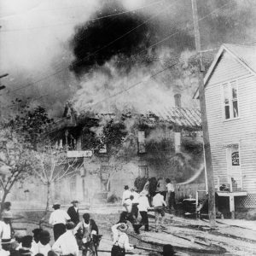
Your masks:
{"label": "white clapboard two-storey house with small porch at right", "polygon": [[204,83],[218,195],[230,198],[230,212],[256,207],[256,45],[223,44]]}

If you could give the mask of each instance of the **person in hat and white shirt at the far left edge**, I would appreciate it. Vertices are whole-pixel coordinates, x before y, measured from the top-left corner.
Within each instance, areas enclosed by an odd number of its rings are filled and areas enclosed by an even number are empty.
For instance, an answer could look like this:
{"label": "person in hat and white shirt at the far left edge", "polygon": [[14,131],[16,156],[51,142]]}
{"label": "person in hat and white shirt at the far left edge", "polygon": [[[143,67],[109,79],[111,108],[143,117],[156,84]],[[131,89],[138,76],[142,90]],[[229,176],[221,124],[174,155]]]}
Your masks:
{"label": "person in hat and white shirt at the far left edge", "polygon": [[11,228],[11,219],[13,214],[10,211],[2,212],[3,221],[0,221],[0,238],[2,247],[4,250],[9,251],[11,243],[15,242],[12,239],[12,228]]}

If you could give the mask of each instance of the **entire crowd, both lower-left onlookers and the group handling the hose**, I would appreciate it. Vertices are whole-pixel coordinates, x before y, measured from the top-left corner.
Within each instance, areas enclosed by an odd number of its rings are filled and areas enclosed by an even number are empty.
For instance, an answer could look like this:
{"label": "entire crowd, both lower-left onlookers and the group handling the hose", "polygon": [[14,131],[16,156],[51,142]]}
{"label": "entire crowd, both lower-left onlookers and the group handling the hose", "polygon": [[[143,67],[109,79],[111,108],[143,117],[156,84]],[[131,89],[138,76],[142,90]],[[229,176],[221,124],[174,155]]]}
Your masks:
{"label": "entire crowd, both lower-left onlookers and the group handling the hose", "polygon": [[[150,200],[147,183],[140,193],[137,193],[136,189],[129,189],[127,185],[124,189],[123,209],[119,221],[112,226],[111,256],[124,256],[126,251],[136,247],[130,244],[129,236],[126,234],[129,228],[127,221],[131,222],[137,234],[143,226],[147,232],[149,231],[148,211],[154,211],[155,232],[159,232],[160,224],[164,224],[165,207],[175,206],[175,200],[173,204],[174,188],[170,179],[166,179],[166,182],[162,178],[159,179],[152,200]],[[52,245],[50,245],[49,230],[38,228],[32,230],[32,235],[27,235],[26,230],[14,232],[10,206],[11,204],[7,202],[0,221],[0,256],[79,256],[79,250],[82,251],[83,256],[98,255],[97,248],[102,236],[99,235],[95,220],[90,218],[90,213],[84,213],[80,220],[79,201],[72,201],[72,207],[69,207],[67,212],[61,209],[60,203],[53,205],[54,211],[49,216],[49,224],[53,228],[54,235]],[[139,214],[140,221],[138,221]],[[164,252],[168,251],[168,248],[164,247]],[[162,254],[175,255],[170,252]]]}

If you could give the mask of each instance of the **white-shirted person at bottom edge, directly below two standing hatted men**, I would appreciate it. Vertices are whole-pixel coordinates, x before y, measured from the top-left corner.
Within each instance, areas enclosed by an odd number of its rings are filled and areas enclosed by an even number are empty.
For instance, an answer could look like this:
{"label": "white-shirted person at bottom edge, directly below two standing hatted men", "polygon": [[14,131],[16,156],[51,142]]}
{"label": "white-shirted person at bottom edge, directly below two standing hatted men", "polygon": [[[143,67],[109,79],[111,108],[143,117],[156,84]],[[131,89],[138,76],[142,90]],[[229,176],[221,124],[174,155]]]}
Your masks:
{"label": "white-shirted person at bottom edge, directly below two standing hatted men", "polygon": [[73,256],[79,256],[79,246],[75,236],[73,235],[73,228],[75,224],[68,222],[66,224],[67,231],[62,234],[52,246],[52,250],[55,253],[61,255],[72,254]]}

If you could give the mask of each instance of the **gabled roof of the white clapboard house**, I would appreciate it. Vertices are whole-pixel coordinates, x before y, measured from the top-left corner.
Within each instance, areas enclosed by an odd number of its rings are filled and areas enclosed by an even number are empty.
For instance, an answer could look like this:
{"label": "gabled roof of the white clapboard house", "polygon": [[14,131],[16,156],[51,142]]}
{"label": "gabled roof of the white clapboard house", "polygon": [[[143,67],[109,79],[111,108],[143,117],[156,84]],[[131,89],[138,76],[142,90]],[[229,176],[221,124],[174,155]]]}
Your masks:
{"label": "gabled roof of the white clapboard house", "polygon": [[212,72],[218,65],[224,51],[228,52],[234,57],[234,59],[236,59],[236,61],[240,62],[243,67],[247,68],[247,70],[256,75],[256,45],[223,44],[218,50],[218,54],[212,61],[212,65],[207,71],[204,78],[205,85],[211,78]]}

